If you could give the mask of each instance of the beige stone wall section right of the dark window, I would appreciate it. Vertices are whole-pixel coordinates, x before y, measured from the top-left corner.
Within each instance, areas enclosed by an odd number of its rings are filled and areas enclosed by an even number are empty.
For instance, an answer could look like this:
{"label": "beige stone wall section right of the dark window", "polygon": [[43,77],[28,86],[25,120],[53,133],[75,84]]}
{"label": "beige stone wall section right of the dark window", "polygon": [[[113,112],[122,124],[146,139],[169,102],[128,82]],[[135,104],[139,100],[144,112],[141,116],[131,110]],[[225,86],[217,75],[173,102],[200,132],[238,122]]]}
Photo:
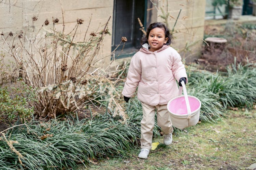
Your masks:
{"label": "beige stone wall section right of the dark window", "polygon": [[[167,11],[167,1],[160,1],[159,8]],[[168,17],[170,30],[173,29],[176,18],[179,18],[174,27],[173,48],[185,58],[186,62],[193,62],[201,54],[201,45],[204,33],[205,0],[168,0]],[[158,10],[158,16],[162,15]],[[161,17],[157,21],[162,22]]]}

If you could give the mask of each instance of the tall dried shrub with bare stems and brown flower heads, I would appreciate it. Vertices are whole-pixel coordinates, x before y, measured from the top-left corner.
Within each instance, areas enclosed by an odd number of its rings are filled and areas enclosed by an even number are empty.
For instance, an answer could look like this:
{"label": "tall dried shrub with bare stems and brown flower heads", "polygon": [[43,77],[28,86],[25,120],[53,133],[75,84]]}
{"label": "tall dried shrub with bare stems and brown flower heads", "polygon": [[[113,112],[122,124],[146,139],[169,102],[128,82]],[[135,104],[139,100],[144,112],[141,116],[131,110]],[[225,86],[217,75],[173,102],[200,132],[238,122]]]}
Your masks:
{"label": "tall dried shrub with bare stems and brown flower heads", "polygon": [[[59,20],[53,18],[53,22]],[[24,38],[20,38],[20,34],[13,37],[9,34],[0,39],[2,49],[17,64],[19,77],[28,86],[39,89],[38,103],[33,103],[35,114],[56,118],[92,103],[96,107],[105,105],[113,115],[125,119],[122,107],[116,102],[119,95],[110,81],[113,77],[109,76],[119,70],[107,73],[100,54],[103,39],[109,33],[108,22],[102,31],[94,31],[93,36],[83,42],[76,41],[82,19],[77,19],[68,34],[64,28],[56,30],[53,24],[51,30],[42,25],[37,33],[29,32]],[[47,19],[44,24],[48,24]],[[102,104],[102,101],[108,102]]]}

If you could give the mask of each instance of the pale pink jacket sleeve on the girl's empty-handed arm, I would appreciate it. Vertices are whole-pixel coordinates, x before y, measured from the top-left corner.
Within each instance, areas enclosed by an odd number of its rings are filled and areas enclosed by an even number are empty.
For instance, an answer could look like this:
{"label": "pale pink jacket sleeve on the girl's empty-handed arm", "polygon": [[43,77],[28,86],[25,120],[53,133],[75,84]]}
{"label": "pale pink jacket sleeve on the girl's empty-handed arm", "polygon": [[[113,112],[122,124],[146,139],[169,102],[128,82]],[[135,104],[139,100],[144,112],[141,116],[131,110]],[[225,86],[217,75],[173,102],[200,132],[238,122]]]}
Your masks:
{"label": "pale pink jacket sleeve on the girl's empty-handed arm", "polygon": [[131,59],[122,95],[131,97],[141,80],[141,63],[135,55]]}

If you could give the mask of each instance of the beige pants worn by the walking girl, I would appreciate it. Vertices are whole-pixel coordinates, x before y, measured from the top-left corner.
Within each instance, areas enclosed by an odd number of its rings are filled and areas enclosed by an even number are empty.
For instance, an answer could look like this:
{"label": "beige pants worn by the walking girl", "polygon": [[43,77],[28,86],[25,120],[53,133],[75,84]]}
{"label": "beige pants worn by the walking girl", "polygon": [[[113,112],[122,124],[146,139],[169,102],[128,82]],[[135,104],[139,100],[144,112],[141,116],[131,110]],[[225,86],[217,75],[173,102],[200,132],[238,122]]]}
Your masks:
{"label": "beige pants worn by the walking girl", "polygon": [[155,109],[157,111],[157,125],[161,128],[163,134],[172,133],[172,122],[170,113],[167,110],[167,104],[151,106],[142,103],[143,118],[141,120],[141,148],[152,148],[153,128],[155,124]]}

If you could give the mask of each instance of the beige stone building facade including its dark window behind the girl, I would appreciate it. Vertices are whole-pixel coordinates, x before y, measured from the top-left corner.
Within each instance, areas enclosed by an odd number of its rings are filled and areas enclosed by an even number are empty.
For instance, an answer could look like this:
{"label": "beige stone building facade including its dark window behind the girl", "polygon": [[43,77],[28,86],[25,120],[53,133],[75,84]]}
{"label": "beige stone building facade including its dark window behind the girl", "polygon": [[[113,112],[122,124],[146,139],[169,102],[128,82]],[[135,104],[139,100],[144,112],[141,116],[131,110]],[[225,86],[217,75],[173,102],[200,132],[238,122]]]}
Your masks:
{"label": "beige stone building facade including its dark window behind the girl", "polygon": [[[86,33],[89,36],[99,30],[111,16],[108,25],[111,35],[105,37],[102,49],[102,55],[108,56],[105,64],[116,56],[120,61],[129,60],[141,47],[143,32],[138,18],[145,30],[152,22],[167,23],[173,31],[172,46],[186,62],[192,62],[201,53],[205,0],[10,0],[1,1],[0,5],[0,32],[5,35],[20,30],[36,32],[46,19],[51,22],[56,18],[59,20],[55,23],[56,30],[62,30],[64,25],[68,34],[74,29],[76,19],[81,18],[84,23],[77,29],[80,37],[76,41],[83,41]],[[44,29],[51,30],[52,24]],[[125,48],[121,50],[121,43],[115,55],[110,55],[123,36],[127,38]]]}

